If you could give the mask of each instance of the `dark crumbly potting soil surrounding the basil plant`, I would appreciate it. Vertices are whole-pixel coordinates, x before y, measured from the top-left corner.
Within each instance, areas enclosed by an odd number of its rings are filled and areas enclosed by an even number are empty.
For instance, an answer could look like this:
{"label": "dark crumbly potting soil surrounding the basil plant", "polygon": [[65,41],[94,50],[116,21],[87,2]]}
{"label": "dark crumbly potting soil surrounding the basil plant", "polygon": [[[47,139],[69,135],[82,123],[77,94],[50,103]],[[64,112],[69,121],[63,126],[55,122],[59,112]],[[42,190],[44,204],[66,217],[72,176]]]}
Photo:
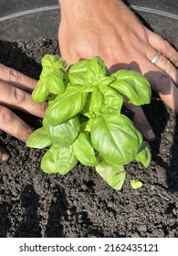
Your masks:
{"label": "dark crumbly potting soil surrounding the basil plant", "polygon": [[[0,48],[0,62],[37,79],[41,58],[58,53],[58,40],[0,41]],[[44,151],[1,131],[10,159],[0,163],[0,237],[178,237],[177,119],[154,93],[144,111],[156,133],[152,164],[127,165],[120,191],[83,165],[66,176],[44,174],[39,167]],[[36,117],[17,114],[40,126]],[[133,178],[143,187],[133,190]]]}

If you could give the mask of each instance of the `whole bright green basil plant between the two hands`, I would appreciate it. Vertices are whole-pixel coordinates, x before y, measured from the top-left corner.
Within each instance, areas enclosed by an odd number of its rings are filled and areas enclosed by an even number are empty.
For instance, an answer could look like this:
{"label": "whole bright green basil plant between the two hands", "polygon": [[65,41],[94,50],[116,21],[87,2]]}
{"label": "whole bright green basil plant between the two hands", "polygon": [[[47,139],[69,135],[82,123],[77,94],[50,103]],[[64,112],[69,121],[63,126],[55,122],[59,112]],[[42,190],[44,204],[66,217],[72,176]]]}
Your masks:
{"label": "whole bright green basil plant between the two hands", "polygon": [[79,162],[95,167],[109,185],[120,190],[124,165],[133,160],[147,167],[149,145],[122,111],[123,101],[134,105],[151,101],[151,86],[139,72],[115,73],[99,57],[83,59],[68,68],[59,56],[46,55],[32,98],[48,102],[43,126],[26,145],[45,148],[41,169],[66,175]]}

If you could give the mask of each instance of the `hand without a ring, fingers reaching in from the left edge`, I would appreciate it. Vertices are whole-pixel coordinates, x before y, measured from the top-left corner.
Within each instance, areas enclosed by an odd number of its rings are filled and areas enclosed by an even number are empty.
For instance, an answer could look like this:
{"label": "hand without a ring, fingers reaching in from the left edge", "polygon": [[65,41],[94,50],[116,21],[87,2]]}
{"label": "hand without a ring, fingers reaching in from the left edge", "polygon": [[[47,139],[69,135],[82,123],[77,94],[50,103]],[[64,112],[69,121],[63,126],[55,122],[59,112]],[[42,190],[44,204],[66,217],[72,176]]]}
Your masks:
{"label": "hand without a ring, fingers reaching in from the left edge", "polygon": [[[36,103],[30,95],[36,85],[37,80],[0,64],[0,129],[23,142],[26,142],[33,129],[12,109],[43,118],[47,103]],[[8,153],[0,146],[0,160],[5,161],[8,157]]]}

